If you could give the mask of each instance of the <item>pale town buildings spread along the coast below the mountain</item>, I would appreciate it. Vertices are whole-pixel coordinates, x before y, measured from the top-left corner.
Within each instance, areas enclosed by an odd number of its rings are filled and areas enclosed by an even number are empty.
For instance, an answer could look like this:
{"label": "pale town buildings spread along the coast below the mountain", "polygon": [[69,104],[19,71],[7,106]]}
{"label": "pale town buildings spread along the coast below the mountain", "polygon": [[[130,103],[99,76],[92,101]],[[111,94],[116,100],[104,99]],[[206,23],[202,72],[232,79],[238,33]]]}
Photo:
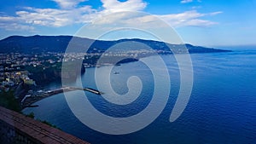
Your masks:
{"label": "pale town buildings spread along the coast below the mountain", "polygon": [[[134,49],[134,50],[115,50],[106,51],[105,53],[55,53],[46,52],[42,54],[21,54],[10,53],[0,54],[0,88],[5,89],[14,87],[23,81],[25,84],[35,84],[35,81],[29,78],[29,67],[44,68],[61,66],[62,61],[83,60],[84,67],[96,66],[97,60],[101,56],[108,59],[113,57],[134,57],[140,58],[147,55],[153,55],[152,49]],[[58,65],[59,64],[59,65]]]}

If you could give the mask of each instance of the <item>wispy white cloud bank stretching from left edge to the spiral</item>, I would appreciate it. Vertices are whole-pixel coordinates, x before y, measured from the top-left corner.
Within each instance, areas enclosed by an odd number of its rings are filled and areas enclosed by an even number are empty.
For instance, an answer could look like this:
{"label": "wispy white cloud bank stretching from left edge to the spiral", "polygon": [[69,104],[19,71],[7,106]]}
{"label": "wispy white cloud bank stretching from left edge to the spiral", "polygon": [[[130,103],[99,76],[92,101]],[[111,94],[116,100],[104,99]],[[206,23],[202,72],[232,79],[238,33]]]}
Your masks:
{"label": "wispy white cloud bank stretching from left edge to the spiral", "polygon": [[16,16],[0,15],[0,28],[7,31],[31,31],[34,26],[61,27],[86,23],[94,19],[95,9],[84,6],[77,9],[36,9],[31,7],[17,11]]}

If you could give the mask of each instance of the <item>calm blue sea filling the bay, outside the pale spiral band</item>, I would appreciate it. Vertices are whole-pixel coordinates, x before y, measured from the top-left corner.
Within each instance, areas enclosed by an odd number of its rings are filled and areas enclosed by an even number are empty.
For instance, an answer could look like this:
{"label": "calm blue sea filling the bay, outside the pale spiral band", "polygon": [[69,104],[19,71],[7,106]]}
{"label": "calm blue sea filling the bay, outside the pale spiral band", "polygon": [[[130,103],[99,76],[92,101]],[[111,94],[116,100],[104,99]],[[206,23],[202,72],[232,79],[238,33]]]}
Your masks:
{"label": "calm blue sea filling the bay, outside the pale spiral band", "polygon": [[[169,117],[180,85],[179,68],[172,55],[162,55],[171,78],[169,100],[160,116],[143,130],[127,135],[108,135],[91,130],[74,116],[63,94],[38,101],[36,104],[39,107],[26,108],[23,112],[34,112],[36,118],[47,120],[92,144],[256,143],[256,50],[236,49],[229,53],[190,56],[194,68],[192,94],[183,114],[172,123]],[[154,63],[154,56],[145,59]],[[102,74],[106,69],[108,66],[100,67]],[[96,89],[94,71],[95,68],[86,69],[81,78],[84,87]],[[119,94],[125,94],[128,91],[126,81],[131,76],[141,78],[143,83],[141,95],[131,104],[114,105],[101,95],[90,92],[85,94],[98,111],[108,116],[132,116],[148,106],[154,92],[154,78],[148,66],[142,62],[125,63],[113,68],[110,76],[113,89]],[[78,99],[84,96],[79,95],[78,91],[69,93]]]}

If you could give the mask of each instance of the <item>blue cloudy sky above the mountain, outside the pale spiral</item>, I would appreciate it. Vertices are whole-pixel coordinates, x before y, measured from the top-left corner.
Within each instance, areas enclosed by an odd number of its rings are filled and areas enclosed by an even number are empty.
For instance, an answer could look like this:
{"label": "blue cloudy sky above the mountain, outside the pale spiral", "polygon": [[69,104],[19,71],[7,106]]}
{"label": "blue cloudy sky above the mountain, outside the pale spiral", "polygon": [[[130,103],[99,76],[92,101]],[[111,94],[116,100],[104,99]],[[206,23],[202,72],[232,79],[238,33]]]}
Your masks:
{"label": "blue cloudy sky above the mountain, outside the pale spiral", "polygon": [[[2,0],[0,39],[12,35],[74,35],[106,14],[113,14],[108,22],[116,23],[120,18],[114,13],[140,11],[164,20],[184,43],[256,45],[255,8],[256,0]],[[126,22],[129,18],[134,25],[143,20],[147,26],[155,26],[148,18],[124,15]]]}

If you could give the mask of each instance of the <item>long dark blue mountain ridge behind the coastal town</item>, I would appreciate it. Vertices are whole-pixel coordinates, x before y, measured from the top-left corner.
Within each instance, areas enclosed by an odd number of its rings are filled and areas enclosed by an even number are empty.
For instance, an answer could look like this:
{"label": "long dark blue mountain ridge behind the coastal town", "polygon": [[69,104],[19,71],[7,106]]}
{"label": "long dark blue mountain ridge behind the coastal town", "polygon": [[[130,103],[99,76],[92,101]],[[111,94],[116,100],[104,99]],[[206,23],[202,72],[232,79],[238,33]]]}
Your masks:
{"label": "long dark blue mountain ridge behind the coastal town", "polygon": [[[90,49],[87,52],[103,52],[106,49],[110,48],[114,44],[120,42],[137,42],[148,45],[152,49],[170,51],[167,47],[172,47],[174,49],[179,49],[183,45],[181,44],[171,44],[171,43],[163,43],[154,40],[143,40],[143,39],[120,39],[113,41],[102,41],[102,40],[92,40],[84,37],[72,37],[72,36],[11,36],[6,37],[0,40],[0,53],[11,53],[11,52],[19,52],[19,53],[42,53],[42,52],[58,52],[64,53],[67,49],[67,46],[72,38],[76,39],[76,43],[73,43],[73,46],[76,48],[84,48],[84,45],[89,45]],[[132,44],[132,43],[131,43]],[[223,49],[210,49],[201,46],[194,46],[191,44],[185,44],[187,49],[189,49],[189,53],[211,53],[211,52],[228,52],[229,50]],[[80,51],[84,52],[84,51]],[[172,53],[172,52],[171,52]]]}

